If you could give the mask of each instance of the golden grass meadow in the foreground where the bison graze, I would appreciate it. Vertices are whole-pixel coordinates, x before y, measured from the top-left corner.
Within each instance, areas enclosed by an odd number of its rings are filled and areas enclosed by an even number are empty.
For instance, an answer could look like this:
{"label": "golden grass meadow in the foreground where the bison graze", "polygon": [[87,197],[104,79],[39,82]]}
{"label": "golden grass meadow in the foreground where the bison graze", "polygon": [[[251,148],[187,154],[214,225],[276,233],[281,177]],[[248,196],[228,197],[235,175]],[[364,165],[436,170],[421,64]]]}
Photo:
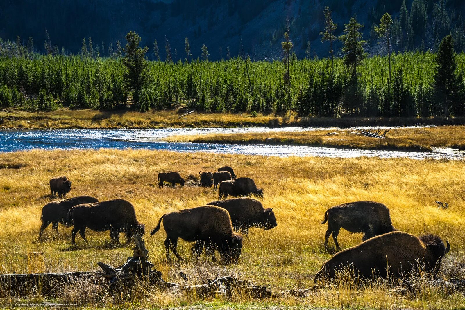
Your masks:
{"label": "golden grass meadow in the foreground where the bison graze", "polygon": [[[48,180],[54,176],[66,175],[73,181],[69,196],[89,194],[100,200],[124,198],[131,201],[138,219],[149,231],[163,213],[196,207],[218,198],[213,187],[197,187],[190,181],[182,188],[159,189],[158,172],[177,170],[193,181],[199,170],[214,171],[225,164],[233,166],[239,176],[253,177],[259,187],[264,188],[263,204],[274,208],[278,226],[270,231],[252,228],[244,239],[238,265],[213,264],[204,256],[198,262],[191,256],[191,244],[184,241],[179,242],[178,249],[187,263],[168,265],[164,254],[164,230],[153,237],[146,234],[150,261],[163,272],[166,280],[182,282],[178,274],[183,271],[191,284],[233,275],[266,284],[276,291],[311,287],[313,276],[323,261],[331,257],[323,247],[326,225],[320,224],[325,210],[355,200],[385,203],[391,209],[393,225],[399,230],[415,235],[437,233],[447,239],[452,250],[443,262],[441,275],[465,276],[465,270],[460,267],[465,262],[465,161],[278,158],[132,149],[33,150],[0,154],[0,167],[15,167],[0,168],[0,273],[97,270],[98,261],[117,266],[132,253],[130,246],[113,248],[108,232],[87,230],[90,243],[85,245],[77,236],[77,246],[71,246],[71,229],[62,225],[60,236],[49,226],[44,233],[46,240],[39,241],[41,207],[50,201]],[[438,209],[435,200],[448,202],[450,209]],[[123,236],[121,239],[124,240]],[[339,234],[343,248],[356,245],[360,240],[360,234],[344,230]],[[333,246],[331,240],[330,245]],[[398,295],[387,292],[383,285],[364,290],[330,288],[312,292],[308,297],[272,298],[259,303],[250,297],[238,296],[233,299],[234,304],[220,297],[202,299],[170,291],[146,292],[147,288],[140,289],[142,297],[120,304],[109,296],[80,299],[82,287],[98,291],[76,284],[76,288],[70,288],[54,300],[77,298],[91,307],[117,304],[122,308],[199,304],[213,309],[272,305],[363,309],[457,309],[465,306],[465,297],[459,293],[446,294],[432,288],[417,296]],[[44,299],[34,294],[27,297],[27,301]],[[0,303],[12,300],[17,299],[5,297]]]}

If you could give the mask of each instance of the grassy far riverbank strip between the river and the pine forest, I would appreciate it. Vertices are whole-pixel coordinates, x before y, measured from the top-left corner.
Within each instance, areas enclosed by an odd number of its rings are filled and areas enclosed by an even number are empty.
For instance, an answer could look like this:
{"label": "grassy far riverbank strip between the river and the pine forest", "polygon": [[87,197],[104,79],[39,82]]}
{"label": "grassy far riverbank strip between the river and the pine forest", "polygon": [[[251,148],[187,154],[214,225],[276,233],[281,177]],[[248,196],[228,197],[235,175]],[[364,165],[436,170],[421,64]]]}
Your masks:
{"label": "grassy far riverbank strip between the river and the pine forest", "polygon": [[206,128],[206,127],[350,127],[404,125],[459,125],[465,118],[434,117],[298,117],[257,115],[247,113],[198,113],[185,108],[151,110],[146,113],[131,110],[101,112],[98,110],[57,110],[27,112],[18,109],[0,110],[0,129],[111,129],[111,128]]}

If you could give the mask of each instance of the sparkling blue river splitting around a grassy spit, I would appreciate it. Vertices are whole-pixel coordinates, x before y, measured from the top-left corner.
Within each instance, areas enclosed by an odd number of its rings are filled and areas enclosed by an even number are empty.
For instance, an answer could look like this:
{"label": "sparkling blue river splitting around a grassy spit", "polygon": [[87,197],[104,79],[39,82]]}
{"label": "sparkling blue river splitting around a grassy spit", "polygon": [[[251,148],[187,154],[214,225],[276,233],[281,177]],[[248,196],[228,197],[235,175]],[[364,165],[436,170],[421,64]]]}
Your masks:
{"label": "sparkling blue river splitting around a grassy spit", "polygon": [[[365,127],[366,129],[367,127]],[[211,152],[246,155],[272,156],[325,156],[359,157],[379,156],[383,158],[409,157],[425,158],[465,158],[464,151],[454,149],[434,149],[433,152],[375,151],[357,149],[333,149],[312,146],[275,144],[220,144],[163,142],[161,138],[173,135],[199,135],[212,133],[247,132],[302,132],[311,130],[340,130],[338,128],[168,128],[168,129],[40,129],[40,130],[0,130],[0,152],[31,149],[154,149],[177,152]]]}

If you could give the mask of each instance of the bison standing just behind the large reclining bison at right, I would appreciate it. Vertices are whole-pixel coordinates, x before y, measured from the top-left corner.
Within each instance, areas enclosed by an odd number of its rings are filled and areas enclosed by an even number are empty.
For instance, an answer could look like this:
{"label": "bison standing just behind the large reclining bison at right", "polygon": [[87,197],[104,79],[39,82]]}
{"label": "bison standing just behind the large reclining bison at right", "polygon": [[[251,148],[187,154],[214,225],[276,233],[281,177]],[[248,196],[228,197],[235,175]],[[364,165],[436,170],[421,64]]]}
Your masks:
{"label": "bison standing just behind the large reclining bison at right", "polygon": [[326,211],[325,220],[321,224],[325,224],[326,221],[328,230],[325,247],[328,247],[329,235],[332,234],[338,250],[338,234],[341,227],[351,233],[364,233],[363,241],[396,230],[392,226],[389,209],[382,203],[373,201],[356,201],[331,207]]}

